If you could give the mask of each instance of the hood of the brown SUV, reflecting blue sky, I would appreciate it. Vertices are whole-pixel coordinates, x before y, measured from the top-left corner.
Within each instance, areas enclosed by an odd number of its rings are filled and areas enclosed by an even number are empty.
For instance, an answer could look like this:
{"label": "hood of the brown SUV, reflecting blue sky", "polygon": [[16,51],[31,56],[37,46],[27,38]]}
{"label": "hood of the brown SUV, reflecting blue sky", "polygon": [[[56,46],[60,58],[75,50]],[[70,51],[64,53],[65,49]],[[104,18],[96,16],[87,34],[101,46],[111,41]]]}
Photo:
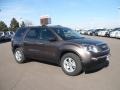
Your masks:
{"label": "hood of the brown SUV, reflecting blue sky", "polygon": [[81,39],[72,39],[68,40],[69,42],[77,43],[77,44],[87,44],[87,45],[99,45],[104,44],[102,41],[89,39],[89,38],[81,38]]}

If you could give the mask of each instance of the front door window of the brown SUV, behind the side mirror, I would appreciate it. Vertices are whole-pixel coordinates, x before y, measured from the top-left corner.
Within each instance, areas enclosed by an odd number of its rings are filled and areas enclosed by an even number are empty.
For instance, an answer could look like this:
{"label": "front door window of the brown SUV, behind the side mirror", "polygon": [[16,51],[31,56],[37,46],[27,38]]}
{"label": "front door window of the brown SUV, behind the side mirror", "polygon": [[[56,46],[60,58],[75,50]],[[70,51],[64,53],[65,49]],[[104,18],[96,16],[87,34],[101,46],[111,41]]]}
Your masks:
{"label": "front door window of the brown SUV, behind the side mirror", "polygon": [[55,38],[54,34],[50,30],[48,30],[46,28],[41,30],[41,37],[40,37],[40,39],[42,39],[42,40],[49,40],[50,38]]}

